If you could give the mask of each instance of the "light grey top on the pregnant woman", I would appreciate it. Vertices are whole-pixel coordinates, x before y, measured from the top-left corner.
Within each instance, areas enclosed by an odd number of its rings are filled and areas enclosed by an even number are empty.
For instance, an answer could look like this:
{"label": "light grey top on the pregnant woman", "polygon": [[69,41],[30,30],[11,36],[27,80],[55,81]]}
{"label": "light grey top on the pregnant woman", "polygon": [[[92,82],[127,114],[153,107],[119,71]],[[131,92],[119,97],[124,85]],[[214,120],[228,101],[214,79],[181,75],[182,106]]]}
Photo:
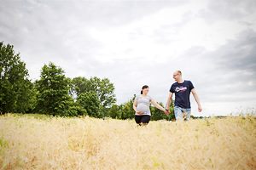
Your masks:
{"label": "light grey top on the pregnant woman", "polygon": [[[137,111],[142,111],[143,115],[149,115],[151,116],[150,110],[149,110],[149,105],[152,100],[150,96],[137,96],[135,99],[137,99]],[[139,115],[135,113],[135,115]]]}

